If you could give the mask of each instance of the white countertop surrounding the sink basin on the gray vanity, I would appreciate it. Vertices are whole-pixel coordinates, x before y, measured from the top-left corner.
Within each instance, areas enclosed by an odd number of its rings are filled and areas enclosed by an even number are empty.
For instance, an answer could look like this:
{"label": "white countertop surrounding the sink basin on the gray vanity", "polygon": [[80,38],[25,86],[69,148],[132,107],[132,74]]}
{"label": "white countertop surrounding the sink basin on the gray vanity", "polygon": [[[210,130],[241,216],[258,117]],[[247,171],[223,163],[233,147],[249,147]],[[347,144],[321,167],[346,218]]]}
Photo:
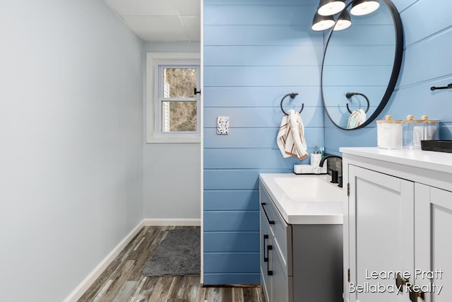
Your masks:
{"label": "white countertop surrounding the sink basin on the gray vanity", "polygon": [[[319,201],[315,202],[307,197],[294,200],[286,194],[286,192],[278,185],[275,179],[278,178],[302,178],[313,177],[313,175],[295,175],[292,173],[263,173],[259,174],[263,186],[266,188],[271,199],[275,203],[276,208],[283,216],[287,223],[291,224],[343,224],[343,190],[337,184],[330,183],[330,175],[315,175],[320,178],[326,185],[337,188],[338,198],[336,201]],[[336,190],[336,189],[333,189]]]}

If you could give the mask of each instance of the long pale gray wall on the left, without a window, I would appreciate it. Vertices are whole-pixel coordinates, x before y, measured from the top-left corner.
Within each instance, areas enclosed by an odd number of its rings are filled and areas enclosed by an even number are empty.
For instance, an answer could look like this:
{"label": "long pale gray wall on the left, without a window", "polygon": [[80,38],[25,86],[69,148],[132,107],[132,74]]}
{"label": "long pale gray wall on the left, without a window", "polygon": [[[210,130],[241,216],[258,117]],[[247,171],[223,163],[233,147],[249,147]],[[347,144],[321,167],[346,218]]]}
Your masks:
{"label": "long pale gray wall on the left, without a window", "polygon": [[62,301],[143,217],[143,42],[100,0],[0,20],[0,300]]}

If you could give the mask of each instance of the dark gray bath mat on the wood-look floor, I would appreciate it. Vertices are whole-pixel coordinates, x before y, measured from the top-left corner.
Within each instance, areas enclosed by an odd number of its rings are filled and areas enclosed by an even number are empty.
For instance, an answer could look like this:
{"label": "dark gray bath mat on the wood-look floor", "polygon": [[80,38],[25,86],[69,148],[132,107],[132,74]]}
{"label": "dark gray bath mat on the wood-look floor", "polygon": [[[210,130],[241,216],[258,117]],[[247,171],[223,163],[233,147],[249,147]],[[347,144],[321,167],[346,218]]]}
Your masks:
{"label": "dark gray bath mat on the wood-look floor", "polygon": [[143,269],[146,277],[200,276],[201,230],[182,228],[168,231]]}

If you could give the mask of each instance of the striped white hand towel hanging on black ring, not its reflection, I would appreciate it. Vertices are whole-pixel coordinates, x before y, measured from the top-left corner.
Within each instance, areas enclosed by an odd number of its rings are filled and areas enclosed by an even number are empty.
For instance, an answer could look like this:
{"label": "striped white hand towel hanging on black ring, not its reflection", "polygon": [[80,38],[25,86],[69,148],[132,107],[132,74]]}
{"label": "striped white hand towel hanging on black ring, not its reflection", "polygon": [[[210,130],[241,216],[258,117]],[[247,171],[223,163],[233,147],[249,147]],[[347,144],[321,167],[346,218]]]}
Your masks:
{"label": "striped white hand towel hanging on black ring, not its reflection", "polygon": [[299,112],[291,109],[287,115],[284,115],[276,141],[283,157],[294,156],[300,161],[307,158],[304,125]]}

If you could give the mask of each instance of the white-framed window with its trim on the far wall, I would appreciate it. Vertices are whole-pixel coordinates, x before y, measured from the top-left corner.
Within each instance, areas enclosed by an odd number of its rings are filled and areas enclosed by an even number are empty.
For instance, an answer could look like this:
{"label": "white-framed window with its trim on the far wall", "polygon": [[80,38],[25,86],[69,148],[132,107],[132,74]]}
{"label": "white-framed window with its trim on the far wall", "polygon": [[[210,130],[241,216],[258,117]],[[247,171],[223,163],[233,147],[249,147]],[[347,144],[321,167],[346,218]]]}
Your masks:
{"label": "white-framed window with its trim on the far wall", "polygon": [[148,53],[147,65],[147,142],[199,142],[199,54]]}

